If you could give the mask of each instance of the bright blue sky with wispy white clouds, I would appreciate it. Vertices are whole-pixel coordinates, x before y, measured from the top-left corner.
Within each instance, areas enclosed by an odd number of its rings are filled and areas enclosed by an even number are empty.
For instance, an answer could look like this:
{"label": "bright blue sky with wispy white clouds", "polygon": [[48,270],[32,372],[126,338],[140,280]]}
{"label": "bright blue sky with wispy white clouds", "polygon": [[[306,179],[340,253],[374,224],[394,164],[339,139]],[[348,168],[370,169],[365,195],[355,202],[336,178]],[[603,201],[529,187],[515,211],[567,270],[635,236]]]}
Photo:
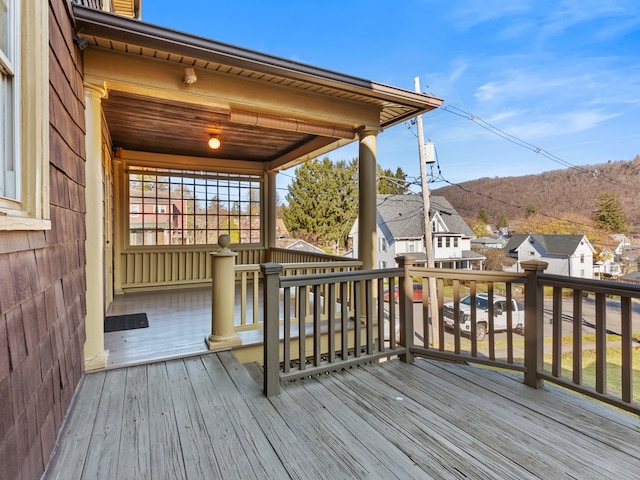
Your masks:
{"label": "bright blue sky with wispy white clouds", "polygon": [[[142,13],[149,23],[407,90],[419,77],[422,91],[445,100],[423,122],[449,182],[640,154],[637,0],[144,0]],[[406,124],[380,134],[378,163],[418,177],[416,134]],[[353,144],[329,156],[357,155]],[[278,177],[282,187],[287,177]]]}

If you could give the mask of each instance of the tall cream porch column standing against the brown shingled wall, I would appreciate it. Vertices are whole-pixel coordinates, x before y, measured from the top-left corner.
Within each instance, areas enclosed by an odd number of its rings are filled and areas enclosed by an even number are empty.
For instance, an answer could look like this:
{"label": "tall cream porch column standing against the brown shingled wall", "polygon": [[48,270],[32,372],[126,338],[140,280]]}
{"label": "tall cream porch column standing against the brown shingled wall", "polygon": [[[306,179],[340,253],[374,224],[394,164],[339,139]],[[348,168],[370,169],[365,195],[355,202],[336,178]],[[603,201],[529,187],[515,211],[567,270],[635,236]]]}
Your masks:
{"label": "tall cream porch column standing against the brown shingled wall", "polygon": [[104,349],[104,223],[102,172],[102,110],[106,89],[84,85],[85,117],[85,226],[87,316],[84,368],[103,368],[108,351]]}

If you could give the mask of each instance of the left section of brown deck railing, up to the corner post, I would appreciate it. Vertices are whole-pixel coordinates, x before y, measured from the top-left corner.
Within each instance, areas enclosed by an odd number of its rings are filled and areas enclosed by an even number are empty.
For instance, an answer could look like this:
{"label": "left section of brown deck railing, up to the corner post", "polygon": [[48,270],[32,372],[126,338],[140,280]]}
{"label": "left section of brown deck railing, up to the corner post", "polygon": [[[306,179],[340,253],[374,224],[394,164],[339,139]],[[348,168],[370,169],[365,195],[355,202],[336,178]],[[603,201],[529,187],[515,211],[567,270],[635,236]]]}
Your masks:
{"label": "left section of brown deck railing, up to the corner post", "polygon": [[[406,355],[406,328],[400,341],[393,307],[384,308],[384,281],[393,285],[403,269],[283,276],[284,266],[261,265],[264,301],[264,391],[279,393],[281,380],[344,369],[380,358]],[[289,306],[295,292],[298,317]],[[283,291],[282,300],[279,292]],[[310,305],[307,299],[311,296]],[[280,320],[280,305],[284,319]],[[307,323],[307,312],[311,322]],[[388,319],[385,319],[388,312]],[[409,318],[405,316],[405,318]],[[282,323],[283,355],[280,355]],[[385,330],[385,325],[388,325]],[[389,337],[388,342],[385,337]],[[323,337],[327,337],[323,345]],[[295,342],[295,343],[294,343]],[[292,343],[294,343],[292,345]]]}

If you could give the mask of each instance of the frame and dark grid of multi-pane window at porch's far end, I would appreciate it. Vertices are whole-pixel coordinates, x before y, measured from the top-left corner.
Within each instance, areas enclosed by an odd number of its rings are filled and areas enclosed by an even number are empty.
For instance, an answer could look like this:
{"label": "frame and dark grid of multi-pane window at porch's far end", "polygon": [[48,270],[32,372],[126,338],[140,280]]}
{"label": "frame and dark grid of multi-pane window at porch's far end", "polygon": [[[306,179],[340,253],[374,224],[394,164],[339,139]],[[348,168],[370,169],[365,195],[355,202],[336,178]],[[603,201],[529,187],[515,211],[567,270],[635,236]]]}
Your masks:
{"label": "frame and dark grid of multi-pane window at porch's far end", "polygon": [[[181,248],[211,247],[216,245],[219,236],[229,234],[232,244],[236,246],[262,246],[265,241],[264,232],[264,177],[259,174],[249,173],[225,173],[218,171],[202,171],[192,166],[155,167],[143,163],[130,163],[125,170],[124,190],[125,208],[129,211],[125,226],[124,248],[135,250],[138,248]],[[138,184],[140,184],[138,186]],[[146,185],[146,186],[145,186]],[[163,188],[159,188],[161,185]],[[136,192],[132,195],[132,192]],[[147,193],[145,193],[147,192]],[[151,193],[150,193],[151,192]],[[155,193],[153,193],[155,192]],[[188,193],[187,193],[188,192]],[[257,197],[251,192],[256,192]],[[190,195],[194,196],[191,197]],[[215,194],[215,197],[210,195]],[[246,194],[246,198],[245,198]],[[153,201],[155,198],[155,202]],[[199,206],[207,205],[215,198],[220,204],[220,211],[209,212],[209,207],[204,211],[198,211]],[[135,203],[132,202],[135,200]],[[157,203],[161,200],[162,203]],[[165,205],[168,202],[168,205]],[[188,209],[187,203],[192,203],[193,210],[179,210],[180,219],[174,225],[173,217],[178,215],[172,207],[174,202],[181,203]],[[140,203],[142,208],[137,217],[131,215],[131,206]],[[145,205],[153,205],[145,208]],[[161,213],[158,208],[165,207]],[[168,206],[168,208],[166,208]],[[239,210],[235,211],[234,209]],[[224,213],[223,213],[224,212]],[[170,217],[168,227],[159,226],[155,230],[160,237],[152,241],[145,236],[151,227],[145,227],[147,221],[158,222],[161,217]],[[140,218],[142,228],[133,227],[131,218]],[[223,226],[228,221],[227,226]],[[237,222],[236,222],[237,221]],[[254,222],[258,223],[254,228]],[[222,222],[223,225],[220,225]],[[247,224],[248,222],[248,224]],[[231,227],[231,225],[236,225]],[[153,230],[153,228],[151,228]],[[134,235],[142,232],[142,243],[132,243]],[[176,233],[179,232],[179,233]],[[213,237],[216,237],[215,239]],[[158,238],[168,240],[159,242]],[[178,239],[181,239],[178,241]],[[203,241],[204,240],[204,241]],[[175,242],[175,243],[174,243]]]}

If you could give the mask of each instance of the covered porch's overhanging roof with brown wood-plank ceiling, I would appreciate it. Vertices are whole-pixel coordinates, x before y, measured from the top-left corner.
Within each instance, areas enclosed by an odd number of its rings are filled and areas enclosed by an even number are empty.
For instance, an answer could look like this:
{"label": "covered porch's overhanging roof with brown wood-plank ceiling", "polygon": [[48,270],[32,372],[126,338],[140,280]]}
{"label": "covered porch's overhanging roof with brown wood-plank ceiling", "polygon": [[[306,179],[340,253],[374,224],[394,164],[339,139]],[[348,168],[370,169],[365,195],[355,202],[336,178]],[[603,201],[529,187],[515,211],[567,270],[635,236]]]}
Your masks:
{"label": "covered porch's overhanging roof with brown wood-plank ceiling", "polygon": [[[442,104],[442,100],[426,94],[377,84],[107,12],[78,5],[73,6],[73,11],[77,34],[88,41],[85,55],[95,58],[93,63],[85,62],[85,65],[91,64],[99,69],[105,53],[115,55],[122,59],[123,65],[128,65],[122,69],[129,75],[129,84],[124,85],[119,79],[111,85],[105,82],[109,95],[103,100],[103,109],[114,147],[255,161],[268,163],[267,168],[279,170],[353,142],[359,129],[382,131]],[[132,61],[139,65],[149,65],[149,62],[168,65],[174,71],[175,66],[195,68],[199,78],[205,77],[204,82],[199,80],[195,85],[199,89],[197,95],[203,101],[198,103],[195,94],[187,98],[184,89],[182,92],[176,90],[175,96],[168,95],[168,90],[157,96],[152,89],[145,90],[144,85],[149,85],[150,79],[132,77],[138,75],[136,72],[142,68],[131,68]],[[106,70],[101,70],[102,77],[97,75],[94,79],[101,81],[107,76],[115,78],[117,75],[113,70],[104,72]],[[221,78],[227,87],[224,98],[219,86],[206,87],[214,75]],[[158,80],[159,83],[162,81]],[[231,92],[232,83],[236,89],[238,84],[246,84],[245,90],[250,95],[238,95],[238,90]],[[205,88],[212,88],[209,90],[210,98],[206,97]],[[215,88],[218,90],[213,90]],[[271,96],[261,95],[263,92],[271,92]],[[289,93],[283,97],[283,92]],[[290,98],[289,103],[283,102],[283,98]],[[232,123],[229,121],[232,109],[280,114],[286,121],[301,120],[321,128],[317,132],[313,129],[291,131],[280,128],[277,119],[266,126]],[[322,128],[327,126],[350,129],[353,137],[327,133]],[[222,139],[222,147],[217,151],[207,147],[209,135],[213,133]]]}

